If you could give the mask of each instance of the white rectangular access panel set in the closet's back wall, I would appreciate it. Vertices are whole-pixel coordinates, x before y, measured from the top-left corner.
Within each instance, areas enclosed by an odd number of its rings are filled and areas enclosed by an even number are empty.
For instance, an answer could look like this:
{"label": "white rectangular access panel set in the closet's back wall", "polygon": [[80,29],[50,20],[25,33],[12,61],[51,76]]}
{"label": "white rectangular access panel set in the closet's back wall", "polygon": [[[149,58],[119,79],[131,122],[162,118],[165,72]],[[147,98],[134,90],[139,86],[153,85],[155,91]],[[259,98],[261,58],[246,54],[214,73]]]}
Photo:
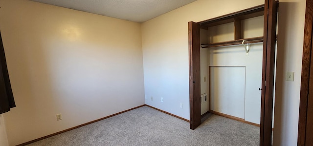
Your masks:
{"label": "white rectangular access panel set in the closet's back wall", "polygon": [[246,66],[210,66],[210,110],[245,118]]}

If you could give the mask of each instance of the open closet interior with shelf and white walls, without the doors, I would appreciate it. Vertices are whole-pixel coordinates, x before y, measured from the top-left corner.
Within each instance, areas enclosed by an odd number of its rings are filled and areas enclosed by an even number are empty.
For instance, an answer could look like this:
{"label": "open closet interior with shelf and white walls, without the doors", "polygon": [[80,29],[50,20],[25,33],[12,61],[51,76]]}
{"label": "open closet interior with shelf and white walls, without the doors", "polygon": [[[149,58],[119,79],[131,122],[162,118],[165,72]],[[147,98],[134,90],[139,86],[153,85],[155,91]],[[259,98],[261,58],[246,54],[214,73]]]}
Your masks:
{"label": "open closet interior with shelf and white walls, without the doors", "polygon": [[201,115],[209,111],[260,124],[263,11],[259,6],[223,23],[202,25],[201,95],[207,94],[208,102],[201,100]]}

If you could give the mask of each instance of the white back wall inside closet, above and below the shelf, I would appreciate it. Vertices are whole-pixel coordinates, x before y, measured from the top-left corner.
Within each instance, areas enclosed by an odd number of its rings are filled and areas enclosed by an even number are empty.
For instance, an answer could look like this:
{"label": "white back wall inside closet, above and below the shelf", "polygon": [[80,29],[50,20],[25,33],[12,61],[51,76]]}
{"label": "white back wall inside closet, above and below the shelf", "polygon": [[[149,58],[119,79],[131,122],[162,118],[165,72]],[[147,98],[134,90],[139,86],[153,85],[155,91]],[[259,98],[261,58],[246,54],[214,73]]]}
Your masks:
{"label": "white back wall inside closet, above and below the shelf", "polygon": [[[260,16],[243,20],[242,38],[263,36],[263,19]],[[207,39],[234,40],[233,23],[210,27]],[[210,109],[260,124],[263,43],[251,43],[248,56],[243,45],[207,49],[208,66],[214,66],[210,67],[209,77]]]}

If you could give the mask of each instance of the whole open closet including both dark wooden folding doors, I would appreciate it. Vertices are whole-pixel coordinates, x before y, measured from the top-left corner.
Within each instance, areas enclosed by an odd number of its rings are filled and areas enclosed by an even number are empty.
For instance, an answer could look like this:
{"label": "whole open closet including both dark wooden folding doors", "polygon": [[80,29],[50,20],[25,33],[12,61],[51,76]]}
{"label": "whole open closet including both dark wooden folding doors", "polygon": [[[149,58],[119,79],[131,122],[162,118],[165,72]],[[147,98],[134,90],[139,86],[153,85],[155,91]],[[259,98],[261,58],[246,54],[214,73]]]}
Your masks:
{"label": "whole open closet including both dark wooden folding doors", "polygon": [[191,129],[209,111],[260,124],[271,144],[277,3],[189,22]]}

